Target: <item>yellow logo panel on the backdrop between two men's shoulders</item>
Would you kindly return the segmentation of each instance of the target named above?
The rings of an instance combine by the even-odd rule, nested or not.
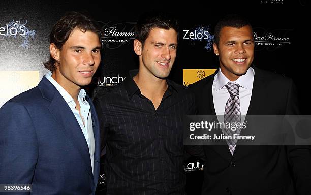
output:
[[[183,85],[188,86],[209,75],[212,75],[216,69],[183,69]]]

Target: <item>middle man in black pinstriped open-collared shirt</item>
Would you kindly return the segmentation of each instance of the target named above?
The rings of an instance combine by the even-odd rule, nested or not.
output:
[[[95,98],[106,146],[107,194],[184,194],[185,114],[194,114],[190,90],[167,79],[178,37],[167,14],[142,15],[135,28],[139,70]]]

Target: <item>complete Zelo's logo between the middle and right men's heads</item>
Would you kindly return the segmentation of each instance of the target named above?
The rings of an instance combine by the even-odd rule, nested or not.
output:
[[[204,26],[204,25],[196,27],[194,30],[183,30],[184,34],[183,34],[182,39],[190,40],[191,45],[195,45],[196,41],[200,41],[204,43],[206,42],[206,45],[204,46],[204,48],[210,51],[211,45],[214,40],[214,36],[210,35],[208,30],[209,30],[209,26]]]

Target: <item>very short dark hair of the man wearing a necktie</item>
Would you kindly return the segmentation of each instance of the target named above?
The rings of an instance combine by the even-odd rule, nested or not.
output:
[[[237,14],[228,14],[222,19],[220,19],[214,29],[214,43],[216,45],[219,44],[220,32],[223,27],[233,27],[233,28],[242,28],[244,26],[250,26],[252,29],[252,25],[245,17],[242,17]],[[253,29],[252,29],[253,31]]]

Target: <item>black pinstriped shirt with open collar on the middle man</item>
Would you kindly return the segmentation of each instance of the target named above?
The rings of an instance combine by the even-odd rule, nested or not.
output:
[[[184,194],[181,124],[194,114],[194,95],[167,80],[155,110],[132,78],[94,100],[106,146],[107,194]]]

